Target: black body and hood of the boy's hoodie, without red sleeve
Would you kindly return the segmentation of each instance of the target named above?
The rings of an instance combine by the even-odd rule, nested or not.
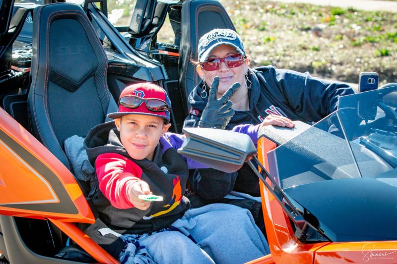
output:
[[[113,121],[91,129],[84,141],[84,146],[93,166],[95,166],[95,159],[104,153],[116,153],[131,159],[143,171],[142,175],[136,176],[140,176],[149,184],[153,194],[163,197],[162,202],[152,202],[145,211],[136,208],[117,209],[98,189],[92,202],[98,210],[99,218],[112,230],[122,234],[150,233],[168,227],[189,209],[189,200],[183,197],[188,180],[188,167],[175,149],[170,148],[162,154],[159,144],[155,149],[153,161],[132,159],[121,144],[120,133]],[[161,170],[161,167],[166,167],[168,173]],[[178,199],[181,197],[178,204]],[[178,205],[174,205],[175,203]],[[169,210],[173,205],[174,208]]]

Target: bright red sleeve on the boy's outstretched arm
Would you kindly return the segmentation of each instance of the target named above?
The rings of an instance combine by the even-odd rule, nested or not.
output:
[[[131,159],[115,153],[99,155],[95,160],[99,189],[118,209],[134,207],[129,192],[133,183],[140,180],[142,169]]]

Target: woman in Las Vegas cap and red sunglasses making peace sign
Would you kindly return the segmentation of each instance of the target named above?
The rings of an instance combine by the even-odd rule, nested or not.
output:
[[[340,96],[354,93],[346,84],[315,78],[309,73],[272,66],[249,68],[250,60],[240,36],[230,29],[214,29],[203,35],[199,40],[198,58],[195,63],[202,81],[189,95],[192,107],[185,127],[251,129],[255,143],[260,126],[292,127],[289,119],[309,124],[317,122],[337,109]],[[216,76],[219,77],[219,100],[208,100],[208,87],[212,92],[216,90]],[[240,85],[236,91],[238,84],[233,86],[235,83]],[[232,91],[228,91],[229,88]],[[231,95],[231,105],[222,98],[224,93]],[[256,126],[238,126],[242,124]],[[202,175],[193,179],[193,185],[199,186],[199,181],[205,182]],[[260,196],[258,178],[248,166],[238,171],[234,190]]]

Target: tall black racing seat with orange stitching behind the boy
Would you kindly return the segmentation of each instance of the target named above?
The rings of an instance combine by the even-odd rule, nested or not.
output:
[[[63,149],[85,137],[117,110],[107,80],[107,56],[79,5],[53,3],[34,9],[32,84],[28,111],[33,135],[71,170]]]

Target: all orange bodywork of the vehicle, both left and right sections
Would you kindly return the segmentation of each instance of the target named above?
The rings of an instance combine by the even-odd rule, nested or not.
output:
[[[276,147],[259,139],[258,158],[267,169],[266,154]],[[1,108],[0,159],[0,214],[48,219],[97,262],[118,263],[74,225],[95,219],[71,172]],[[302,243],[262,183],[261,196],[271,255],[250,264],[397,263],[397,241]]]

